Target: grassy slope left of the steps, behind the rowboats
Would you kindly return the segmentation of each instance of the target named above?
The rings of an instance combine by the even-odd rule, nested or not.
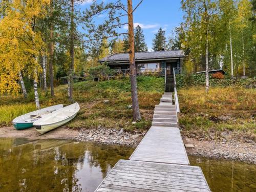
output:
[[[127,106],[132,104],[130,79],[109,81],[83,81],[74,84],[74,100],[80,105],[77,117],[67,124],[73,129],[91,129],[95,127],[116,128],[125,130],[145,130],[151,125],[155,104],[159,103],[164,88],[162,77],[143,76],[137,78],[138,97],[142,120],[132,124],[132,110]],[[70,104],[67,98],[67,86],[55,88],[55,97],[40,93],[41,107],[58,103]],[[109,103],[103,103],[109,100]],[[11,125],[11,120],[21,114],[35,110],[33,92],[28,99],[22,96],[1,96],[0,125]]]

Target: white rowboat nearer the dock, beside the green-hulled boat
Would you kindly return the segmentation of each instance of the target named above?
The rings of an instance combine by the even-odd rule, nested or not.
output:
[[[67,122],[71,121],[78,113],[80,107],[78,103],[66,106],[58,111],[46,115],[33,123],[36,131],[40,134],[49,132]]]

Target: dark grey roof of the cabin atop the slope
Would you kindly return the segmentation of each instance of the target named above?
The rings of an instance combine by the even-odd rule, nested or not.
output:
[[[152,60],[152,59],[170,59],[185,57],[183,50],[172,50],[172,51],[154,51],[154,52],[139,52],[135,53],[135,60]],[[129,61],[129,53],[119,53],[114,55],[108,55],[98,62],[104,62],[108,59],[112,61]]]

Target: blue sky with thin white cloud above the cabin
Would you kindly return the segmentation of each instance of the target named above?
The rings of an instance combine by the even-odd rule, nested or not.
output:
[[[105,0],[111,2],[111,0]],[[81,9],[90,6],[91,0],[79,5]],[[133,1],[135,7],[140,0]],[[126,1],[123,0],[126,5]],[[152,40],[160,27],[166,31],[166,37],[173,34],[175,27],[182,22],[181,0],[144,0],[134,12],[134,28],[139,25],[144,32],[145,41],[149,51],[152,51]],[[104,16],[104,15],[103,15]],[[103,17],[102,16],[102,17]],[[127,26],[123,26],[120,32],[125,32]]]

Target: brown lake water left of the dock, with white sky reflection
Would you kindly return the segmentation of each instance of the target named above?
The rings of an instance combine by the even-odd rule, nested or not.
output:
[[[133,150],[70,140],[0,139],[0,191],[94,191]]]

